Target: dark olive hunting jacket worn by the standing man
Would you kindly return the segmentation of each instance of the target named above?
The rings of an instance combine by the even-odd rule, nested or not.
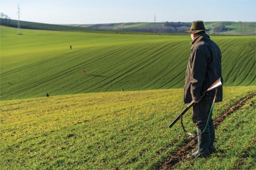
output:
[[[191,53],[185,76],[184,102],[194,101],[212,102],[215,90],[207,92],[201,98],[202,92],[221,77],[221,50],[207,34],[198,36],[191,42]],[[215,102],[222,101],[222,86],[218,87]]]

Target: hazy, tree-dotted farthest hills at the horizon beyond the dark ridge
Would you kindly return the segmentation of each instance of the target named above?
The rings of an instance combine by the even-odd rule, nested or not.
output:
[[[204,22],[207,33],[221,35],[256,35],[256,22]],[[131,22],[114,24],[82,24],[73,25],[91,29],[122,30],[151,33],[184,34],[190,29],[191,22]]]

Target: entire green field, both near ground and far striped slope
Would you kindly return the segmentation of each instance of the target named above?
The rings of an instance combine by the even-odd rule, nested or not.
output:
[[[185,107],[189,35],[0,29],[0,169],[156,169],[187,143],[168,125]],[[233,111],[216,153],[173,166],[256,169],[255,36],[211,38],[224,78],[213,118]],[[183,123],[195,132],[191,110]]]

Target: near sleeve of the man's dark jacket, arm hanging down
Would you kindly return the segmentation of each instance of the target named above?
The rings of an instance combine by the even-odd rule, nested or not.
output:
[[[191,53],[190,63],[191,63],[191,75],[190,75],[190,92],[192,95],[192,100],[200,101],[201,93],[204,89],[205,75],[207,72],[207,61],[209,54],[203,48],[198,47],[194,49]]]

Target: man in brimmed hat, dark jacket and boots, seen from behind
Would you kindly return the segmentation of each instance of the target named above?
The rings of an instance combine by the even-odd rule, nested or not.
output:
[[[205,130],[210,108],[215,90],[211,90],[201,97],[202,92],[208,89],[210,85],[221,77],[221,50],[218,45],[210,39],[205,33],[204,22],[193,21],[190,30],[192,47],[190,58],[185,76],[184,102],[190,103],[192,100],[196,103],[193,106],[192,120],[197,130],[198,149],[188,157],[205,157],[210,155],[216,149],[213,145],[215,140],[215,129],[213,120]],[[215,102],[222,101],[222,86],[218,87]]]

